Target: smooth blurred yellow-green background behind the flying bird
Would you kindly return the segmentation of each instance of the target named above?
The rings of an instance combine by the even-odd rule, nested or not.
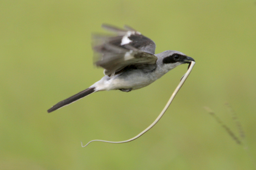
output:
[[[91,34],[129,25],[196,65],[158,124],[151,124],[188,65],[129,93],[94,93],[52,105],[103,76]],[[255,169],[256,1],[0,1],[0,169]],[[238,135],[238,145],[204,109]]]

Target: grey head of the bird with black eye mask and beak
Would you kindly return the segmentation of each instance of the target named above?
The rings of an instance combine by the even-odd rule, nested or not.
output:
[[[184,63],[190,63],[195,61],[193,58],[181,53],[180,51],[167,50],[162,53],[156,54],[157,64],[163,65],[168,70],[175,68],[176,66]]]

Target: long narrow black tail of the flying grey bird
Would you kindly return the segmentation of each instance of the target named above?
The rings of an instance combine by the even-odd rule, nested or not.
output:
[[[81,99],[82,97],[85,97],[88,94],[95,92],[94,89],[95,89],[95,87],[90,87],[88,89],[83,90],[82,92],[79,92],[79,93],[69,97],[68,99],[62,100],[59,103],[57,103],[56,105],[52,106],[50,109],[48,109],[47,112],[48,113],[53,112],[54,110],[57,110],[60,107],[66,106],[78,99]]]

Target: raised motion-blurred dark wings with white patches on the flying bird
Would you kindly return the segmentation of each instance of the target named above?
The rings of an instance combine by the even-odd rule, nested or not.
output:
[[[154,41],[129,26],[124,29],[109,25],[102,27],[115,33],[93,36],[93,50],[98,55],[95,64],[105,69],[104,74],[119,74],[125,68],[152,69],[152,65],[156,65]]]

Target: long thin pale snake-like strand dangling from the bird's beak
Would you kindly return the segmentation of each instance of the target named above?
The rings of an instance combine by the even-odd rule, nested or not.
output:
[[[172,103],[172,100],[174,99],[174,97],[176,96],[176,94],[179,92],[181,86],[184,84],[184,82],[186,81],[186,79],[188,78],[188,75],[190,74],[192,68],[194,67],[194,65],[196,64],[196,62],[192,61],[189,68],[188,68],[188,71],[185,73],[185,75],[183,76],[183,78],[180,80],[180,83],[179,85],[176,87],[176,89],[174,90],[174,92],[172,93],[172,96],[170,97],[170,99],[168,100],[168,102],[166,103],[164,109],[162,110],[162,112],[158,115],[158,117],[156,118],[156,120],[151,123],[151,125],[149,125],[145,130],[143,130],[142,132],[140,132],[137,136],[135,137],[132,137],[131,139],[128,139],[128,140],[124,140],[124,141],[107,141],[107,140],[99,140],[99,139],[96,139],[96,140],[91,140],[90,142],[88,142],[86,145],[83,146],[83,143],[81,142],[82,144],[82,147],[85,147],[87,146],[88,144],[90,144],[91,142],[94,142],[94,141],[99,141],[99,142],[107,142],[107,143],[112,143],[112,144],[121,144],[121,143],[126,143],[126,142],[131,142],[135,139],[137,139],[138,137],[142,136],[144,133],[146,133],[149,129],[151,129],[153,126],[156,125],[156,123],[161,119],[161,117],[164,115],[164,113],[166,112],[166,110],[168,109],[168,107],[170,106],[170,104]]]

